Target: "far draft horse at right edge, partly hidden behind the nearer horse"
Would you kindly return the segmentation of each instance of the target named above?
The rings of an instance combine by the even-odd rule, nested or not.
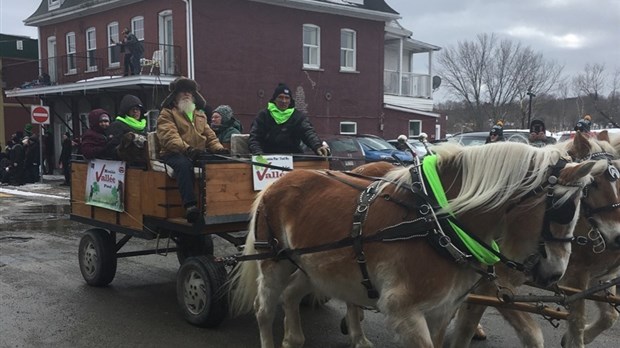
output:
[[[607,132],[601,132],[598,139],[586,141],[578,134],[566,148],[575,161],[599,159],[597,166],[605,168],[594,176],[587,196],[583,198],[582,209],[575,236],[579,243],[573,243],[573,250],[565,276],[560,285],[575,289],[587,289],[597,281],[615,278],[620,270],[620,138],[610,143]],[[509,241],[508,241],[509,242]],[[524,281],[518,274],[505,268],[498,268],[501,286],[514,289]],[[615,294],[615,287],[609,289]],[[487,284],[476,291],[493,296],[496,287]],[[610,328],[618,319],[614,307],[606,302],[596,303],[599,317],[586,325],[585,299],[569,304],[567,332],[562,338],[564,347],[584,347],[601,332]],[[455,331],[451,337],[453,347],[466,347],[465,342],[472,335],[473,323],[477,323],[484,306],[463,305],[455,320]],[[538,323],[525,312],[497,308],[502,316],[517,329],[518,337],[525,347],[543,347],[544,339]]]

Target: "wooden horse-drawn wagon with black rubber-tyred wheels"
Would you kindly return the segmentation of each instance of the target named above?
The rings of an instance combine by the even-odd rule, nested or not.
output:
[[[293,168],[328,167],[326,160],[310,157],[293,158]],[[99,162],[107,167],[104,169]],[[176,180],[163,163],[149,160],[146,167],[133,167],[118,161],[74,159],[70,218],[92,226],[79,244],[82,276],[89,285],[105,286],[114,279],[118,258],[176,252],[181,263],[177,298],[185,318],[200,326],[219,324],[226,314],[226,303],[218,291],[227,275],[224,264],[213,259],[211,235],[235,246],[243,244],[244,239],[233,232],[247,230],[250,207],[257,193],[253,183],[253,170],[257,168],[269,170],[268,165],[252,165],[249,157],[212,156],[200,160],[195,168],[194,190],[204,219],[190,224],[185,219]],[[112,193],[120,209],[94,200],[93,194],[107,186],[104,181],[112,175],[107,173],[120,175],[116,180],[109,179],[115,182]],[[134,237],[155,240],[156,246],[122,251]]]

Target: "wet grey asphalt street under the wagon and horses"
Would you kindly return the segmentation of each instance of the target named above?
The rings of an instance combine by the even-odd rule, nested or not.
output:
[[[108,287],[86,285],[78,265],[78,243],[90,228],[72,222],[67,199],[24,197],[0,191],[0,347],[257,347],[253,315],[225,320],[216,329],[191,326],[176,303],[176,255],[118,260]],[[131,240],[131,250],[155,241]],[[234,252],[216,239],[216,255]],[[339,330],[345,307],[332,300],[324,308],[304,307],[306,347],[348,347]],[[592,313],[593,314],[593,313]],[[547,346],[559,347],[558,329],[538,317]],[[520,347],[514,330],[488,310],[482,320],[488,339],[472,347]],[[363,322],[376,347],[398,347],[381,314]],[[282,314],[276,318],[282,338]],[[619,325],[590,347],[615,347]]]

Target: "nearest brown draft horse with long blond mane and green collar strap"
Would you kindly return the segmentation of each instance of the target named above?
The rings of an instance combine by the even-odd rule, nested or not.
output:
[[[303,345],[299,302],[312,289],[378,308],[403,345],[440,347],[455,310],[480,274],[486,275],[478,260],[497,261],[488,260],[495,256],[489,251],[492,241],[506,232],[497,217],[513,214],[510,206],[521,200],[531,200],[539,213],[522,216],[524,230],[538,231],[524,241],[536,249],[546,240],[546,257],[521,266],[541,284],[560,279],[594,163],[567,163],[559,148],[520,143],[444,144],[434,150],[436,165],[425,159],[422,170],[393,170],[381,185],[300,170],[258,195],[244,249],[248,259],[233,271],[230,301],[233,314],[254,307],[261,347],[274,346],[272,325],[281,296],[282,346]],[[429,176],[435,177],[432,187]],[[545,219],[546,209],[561,209],[569,223]],[[456,229],[448,227],[452,224],[466,241],[446,232]],[[465,243],[477,246],[465,248]]]

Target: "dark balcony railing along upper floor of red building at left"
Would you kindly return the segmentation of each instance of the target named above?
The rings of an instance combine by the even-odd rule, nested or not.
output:
[[[182,75],[180,63],[183,51],[180,46],[149,42],[142,44],[144,55],[141,62],[149,63],[141,66],[142,75]],[[23,83],[7,86],[9,89],[67,84],[103,76],[123,76],[125,71],[124,53],[121,53],[120,46],[117,45],[21,64],[32,64],[32,69],[26,70],[40,71],[39,77],[24,76]],[[49,75],[49,80],[42,78],[44,73]]]

